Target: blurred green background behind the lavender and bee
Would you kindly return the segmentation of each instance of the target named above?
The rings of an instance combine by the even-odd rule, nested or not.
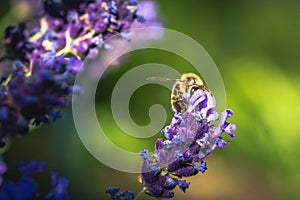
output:
[[[175,199],[300,199],[300,1],[156,3],[164,27],[198,41],[217,64],[226,87],[227,107],[235,113],[230,121],[238,127],[231,145],[216,150],[207,159],[209,170],[189,178],[192,184],[187,193],[177,190]],[[1,1],[0,11],[1,34],[5,26],[26,16],[26,9],[8,1]],[[99,83],[96,108],[104,118],[100,123],[118,146],[130,146],[133,152],[153,150],[159,133],[137,140],[117,128],[110,110],[114,85],[125,72],[143,63],[162,63],[180,72],[195,70],[168,52],[143,50],[126,57]],[[149,107],[160,103],[168,111],[169,122],[169,101],[170,91],[145,85],[131,98],[132,117],[145,125]],[[68,177],[72,199],[108,199],[105,189],[111,186],[134,192],[141,189],[137,174],[113,170],[87,152],[74,128],[71,109],[64,111],[62,120],[10,141],[4,154],[9,167],[5,177],[15,178],[18,163],[31,159],[45,160],[48,169]],[[37,176],[44,182],[40,191],[50,187],[48,175]]]

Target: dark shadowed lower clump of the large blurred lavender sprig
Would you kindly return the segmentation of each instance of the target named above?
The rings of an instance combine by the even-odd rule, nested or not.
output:
[[[60,117],[70,102],[75,74],[81,61],[63,56],[36,60],[31,75],[23,69],[12,73],[0,87],[0,137],[26,134],[29,125],[38,126]]]

